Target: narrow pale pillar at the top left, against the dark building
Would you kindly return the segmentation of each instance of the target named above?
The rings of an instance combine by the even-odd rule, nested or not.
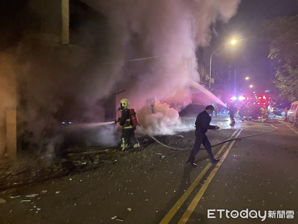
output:
[[[70,43],[70,0],[61,1],[62,44]]]

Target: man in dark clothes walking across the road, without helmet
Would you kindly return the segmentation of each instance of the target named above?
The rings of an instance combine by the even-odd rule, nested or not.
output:
[[[195,162],[196,154],[198,153],[201,144],[203,144],[204,147],[206,148],[212,163],[217,163],[218,161],[220,161],[219,159],[214,158],[212,151],[211,151],[211,143],[208,140],[208,137],[206,136],[206,132],[208,129],[219,129],[220,128],[218,126],[210,125],[211,116],[209,114],[211,114],[213,112],[214,112],[214,107],[212,105],[209,105],[205,108],[205,110],[203,112],[200,112],[199,115],[197,116],[197,119],[195,122],[195,124],[196,124],[195,144],[193,146],[193,149],[192,149],[186,163],[190,163],[193,166],[197,166],[197,164],[195,164],[194,162]]]

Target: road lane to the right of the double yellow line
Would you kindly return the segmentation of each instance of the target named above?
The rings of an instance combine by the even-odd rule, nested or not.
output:
[[[275,219],[267,217],[263,222],[224,217],[222,224],[298,223],[298,134],[286,125],[277,126],[277,132],[234,144],[188,224],[218,223],[219,214],[217,219],[207,219],[207,209],[275,211]],[[263,124],[255,124],[254,129],[264,130]],[[254,130],[243,131],[240,137],[250,133]]]

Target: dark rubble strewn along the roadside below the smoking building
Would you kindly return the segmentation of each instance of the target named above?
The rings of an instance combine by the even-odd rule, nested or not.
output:
[[[218,143],[221,139],[226,139],[229,136],[228,133],[231,131],[232,130],[228,132],[225,130],[210,131],[208,134],[212,143]],[[193,146],[194,131],[155,137],[166,145],[189,151]],[[152,145],[150,146],[150,150],[158,145],[148,136],[140,137],[139,141],[141,144],[141,151],[149,145]],[[164,149],[162,153],[149,153],[150,155],[157,156],[160,162],[166,161],[167,156],[169,155],[168,153],[173,151],[172,149],[166,149],[164,146],[161,146],[161,148]],[[116,147],[103,148],[100,146],[86,147],[83,145],[74,145],[64,150],[63,157],[55,158],[47,163],[44,163],[40,159],[32,158],[18,159],[17,161],[3,160],[0,162],[0,190],[71,175],[77,172],[95,169],[102,165],[117,164],[120,159],[128,159],[128,153],[136,153],[134,156],[140,157],[140,159],[144,159],[148,156],[148,153],[142,154],[138,152],[131,152],[130,150],[122,152]],[[176,153],[181,153],[181,151],[176,151]],[[42,191],[41,193],[46,192],[47,191]],[[16,195],[13,197],[19,196]]]

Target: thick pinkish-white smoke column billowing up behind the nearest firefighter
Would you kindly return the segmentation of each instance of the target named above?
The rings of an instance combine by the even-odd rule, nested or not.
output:
[[[84,1],[108,17],[115,59],[128,60],[117,70],[115,82],[125,90],[117,101],[128,98],[151,134],[173,133],[181,122],[178,112],[156,99],[178,105],[177,110],[190,103],[191,80],[199,79],[196,48],[209,44],[210,26],[228,21],[239,0]]]

